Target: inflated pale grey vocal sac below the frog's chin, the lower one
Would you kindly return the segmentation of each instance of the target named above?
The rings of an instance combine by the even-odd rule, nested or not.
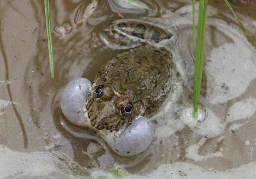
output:
[[[145,151],[154,136],[154,125],[146,117],[137,117],[120,134],[111,133],[106,139],[113,151],[121,156],[133,156]]]

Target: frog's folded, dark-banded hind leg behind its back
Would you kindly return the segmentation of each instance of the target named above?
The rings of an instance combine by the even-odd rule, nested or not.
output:
[[[159,43],[171,37],[172,33],[168,29],[138,19],[114,21],[100,33],[101,40],[113,49],[128,49],[142,44]]]

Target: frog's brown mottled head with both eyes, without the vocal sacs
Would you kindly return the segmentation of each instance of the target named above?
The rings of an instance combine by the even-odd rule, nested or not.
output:
[[[110,80],[97,80],[89,91],[87,99],[88,117],[98,130],[118,130],[143,116],[143,102],[134,99],[132,93],[121,93]],[[124,92],[124,91],[123,91]]]

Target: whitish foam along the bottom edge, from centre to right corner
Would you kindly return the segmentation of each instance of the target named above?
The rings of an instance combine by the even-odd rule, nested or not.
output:
[[[127,174],[126,179],[255,179],[256,162],[252,162],[229,171],[213,171],[211,168],[198,167],[194,164],[177,162],[175,164],[163,164],[151,174],[137,176]],[[100,179],[110,174],[96,170],[92,172],[94,179]]]

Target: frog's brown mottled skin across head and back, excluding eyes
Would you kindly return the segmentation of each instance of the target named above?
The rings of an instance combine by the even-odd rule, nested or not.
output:
[[[92,126],[118,130],[139,115],[153,115],[169,94],[173,76],[179,73],[165,48],[146,45],[117,55],[101,68],[89,91],[87,110]],[[104,94],[97,99],[94,92],[99,86]],[[130,115],[120,112],[126,102],[133,104]]]

